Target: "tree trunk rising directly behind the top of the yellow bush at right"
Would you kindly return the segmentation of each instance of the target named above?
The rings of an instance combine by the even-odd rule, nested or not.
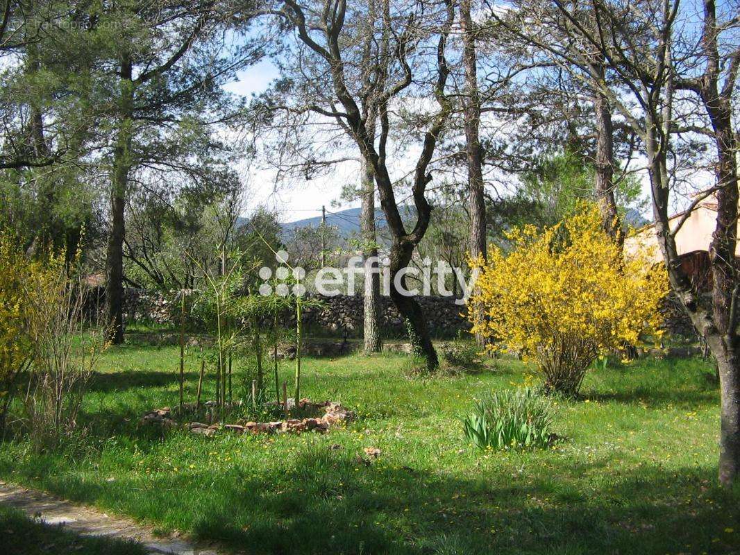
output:
[[[601,77],[604,77],[604,64],[597,64]],[[602,227],[619,246],[625,236],[614,199],[614,143],[611,122],[611,107],[608,99],[598,90],[593,91],[593,111],[596,114],[596,178],[594,189]]]

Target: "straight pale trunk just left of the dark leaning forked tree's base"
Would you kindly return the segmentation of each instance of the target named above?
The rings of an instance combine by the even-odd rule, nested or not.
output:
[[[375,235],[375,180],[372,165],[363,162],[362,214],[360,233],[365,243],[365,296],[363,337],[365,352],[377,353],[383,349],[380,341],[380,275],[377,272],[377,248]]]

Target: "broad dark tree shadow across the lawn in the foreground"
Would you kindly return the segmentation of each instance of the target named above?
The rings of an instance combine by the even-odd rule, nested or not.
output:
[[[651,466],[613,482],[575,474],[460,480],[383,456],[366,465],[349,451],[312,445],[259,476],[235,467],[228,475],[158,477],[148,501],[186,508],[176,518],[197,536],[250,554],[729,554],[736,547],[740,495],[715,488],[705,472]]]

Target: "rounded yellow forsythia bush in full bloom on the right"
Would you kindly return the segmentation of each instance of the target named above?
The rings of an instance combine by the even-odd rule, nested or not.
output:
[[[513,229],[506,251],[491,246],[468,301],[471,332],[491,349],[534,360],[545,389],[578,392],[600,354],[643,333],[658,337],[659,303],[668,291],[665,267],[647,253],[625,260],[602,230],[596,206],[582,204],[565,221],[539,231]]]

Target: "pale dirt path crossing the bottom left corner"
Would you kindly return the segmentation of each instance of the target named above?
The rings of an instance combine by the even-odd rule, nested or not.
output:
[[[43,491],[0,482],[0,503],[19,509],[28,517],[47,525],[61,525],[85,536],[132,539],[144,545],[150,554],[223,555],[212,546],[195,545],[186,539],[157,537],[152,530],[131,519],[111,517],[96,508],[64,501]]]

